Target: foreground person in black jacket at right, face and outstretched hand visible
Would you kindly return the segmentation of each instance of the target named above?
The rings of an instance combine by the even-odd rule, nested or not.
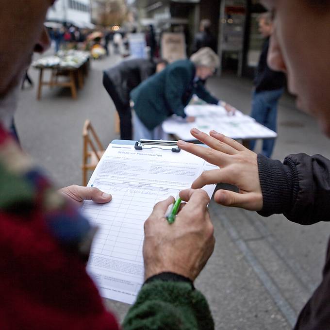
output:
[[[297,106],[314,115],[330,137],[330,1],[263,0],[275,15],[268,64],[288,76]],[[313,29],[309,22],[313,21]],[[297,28],[298,27],[298,28]],[[284,162],[270,160],[214,131],[192,134],[214,150],[182,141],[178,146],[221,169],[204,172],[192,185],[230,183],[239,192],[218,190],[214,200],[222,205],[284,214],[301,225],[330,220],[330,160],[321,155],[289,155]],[[219,143],[220,141],[220,143]],[[330,243],[322,282],[298,316],[294,330],[330,329]]]

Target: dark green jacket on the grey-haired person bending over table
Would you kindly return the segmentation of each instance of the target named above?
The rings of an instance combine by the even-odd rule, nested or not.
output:
[[[217,104],[218,99],[200,81],[194,82],[195,74],[196,68],[191,61],[176,61],[132,90],[135,113],[148,130],[153,130],[173,114],[184,118],[184,108],[193,94],[207,103]]]

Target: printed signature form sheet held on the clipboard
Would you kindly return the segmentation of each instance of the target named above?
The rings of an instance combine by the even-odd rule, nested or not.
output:
[[[112,194],[108,204],[85,201],[82,213],[99,227],[87,270],[102,297],[133,303],[144,281],[143,225],[153,206],[217,168],[183,150],[135,150],[110,144],[88,186]],[[215,185],[206,187],[211,197]]]

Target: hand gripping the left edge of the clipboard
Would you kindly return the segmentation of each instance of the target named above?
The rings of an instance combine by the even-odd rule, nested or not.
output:
[[[84,200],[93,200],[96,203],[104,204],[112,199],[111,195],[103,193],[99,188],[82,187],[76,184],[62,188],[59,192],[78,205],[81,205]]]

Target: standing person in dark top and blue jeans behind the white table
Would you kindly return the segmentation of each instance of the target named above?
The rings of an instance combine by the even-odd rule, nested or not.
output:
[[[267,65],[269,38],[272,33],[273,22],[270,13],[259,16],[259,32],[265,37],[263,49],[254,79],[255,90],[252,94],[251,117],[258,123],[277,131],[277,107],[284,92],[285,76],[283,72],[272,70]],[[250,140],[249,148],[254,149],[255,140]],[[275,146],[275,139],[264,139],[262,154],[271,157]]]

